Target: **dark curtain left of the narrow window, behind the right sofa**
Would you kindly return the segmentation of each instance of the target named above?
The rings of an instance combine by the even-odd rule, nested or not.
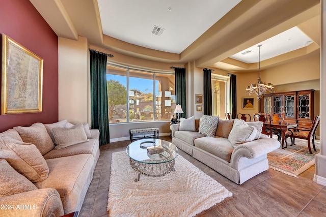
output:
[[[212,82],[211,82],[211,69],[204,69],[204,96],[203,96],[203,114],[213,114],[213,102],[212,102]]]

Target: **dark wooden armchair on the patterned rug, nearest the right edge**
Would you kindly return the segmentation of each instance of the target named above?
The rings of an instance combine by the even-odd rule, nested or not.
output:
[[[311,147],[310,147],[310,140],[312,140],[312,146],[314,148],[314,151],[316,151],[315,133],[316,133],[316,129],[317,129],[318,125],[319,125],[319,121],[320,121],[320,118],[317,115],[317,116],[315,116],[315,118],[314,118],[314,120],[312,122],[311,128],[304,128],[304,127],[300,127],[300,126],[293,127],[293,128],[288,128],[288,131],[285,134],[286,146],[287,146],[286,139],[288,137],[290,137],[290,139],[291,139],[291,145],[295,145],[294,144],[295,138],[305,139],[305,140],[308,141],[309,152],[312,154]]]

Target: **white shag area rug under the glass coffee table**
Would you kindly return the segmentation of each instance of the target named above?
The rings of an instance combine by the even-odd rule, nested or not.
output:
[[[125,151],[112,153],[109,216],[194,216],[231,197],[222,184],[180,155],[175,170],[160,177],[138,176]]]

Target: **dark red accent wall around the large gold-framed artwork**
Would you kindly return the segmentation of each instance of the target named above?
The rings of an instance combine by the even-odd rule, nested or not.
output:
[[[28,0],[0,0],[0,33],[43,58],[43,111],[0,115],[0,132],[58,121],[58,36]]]

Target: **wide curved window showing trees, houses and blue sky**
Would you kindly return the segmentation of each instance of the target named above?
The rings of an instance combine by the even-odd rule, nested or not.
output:
[[[108,65],[106,79],[110,123],[171,119],[174,73]]]

